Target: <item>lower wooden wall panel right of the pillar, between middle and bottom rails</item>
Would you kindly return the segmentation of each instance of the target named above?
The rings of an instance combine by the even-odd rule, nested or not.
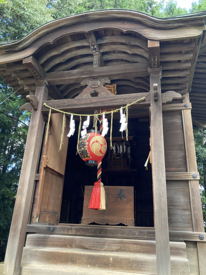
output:
[[[167,181],[169,230],[193,231],[188,181]]]

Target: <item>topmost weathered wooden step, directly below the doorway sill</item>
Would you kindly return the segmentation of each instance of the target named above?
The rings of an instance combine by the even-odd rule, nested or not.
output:
[[[29,234],[26,247],[33,248],[76,248],[94,251],[127,252],[138,255],[156,256],[155,240],[66,236],[54,234]],[[185,242],[170,242],[170,256],[187,258]]]

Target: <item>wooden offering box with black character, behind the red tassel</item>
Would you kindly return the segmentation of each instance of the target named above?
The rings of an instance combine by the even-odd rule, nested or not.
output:
[[[106,210],[89,209],[93,186],[85,186],[82,225],[97,223],[101,225],[135,226],[134,187],[104,186],[106,193]]]

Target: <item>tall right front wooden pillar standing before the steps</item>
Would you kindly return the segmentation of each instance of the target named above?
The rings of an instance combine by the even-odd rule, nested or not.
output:
[[[166,174],[162,126],[161,67],[151,69],[151,147],[154,194],[154,219],[156,238],[157,274],[171,275],[170,244],[167,212]],[[155,90],[154,91],[154,87]],[[157,87],[157,89],[156,89]]]

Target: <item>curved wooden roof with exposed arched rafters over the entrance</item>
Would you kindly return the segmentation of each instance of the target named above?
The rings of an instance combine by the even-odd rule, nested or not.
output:
[[[94,52],[90,47],[93,41],[100,52],[99,66],[147,63],[150,39],[160,41],[162,92],[175,90],[185,94],[191,88],[205,30],[205,14],[156,18],[137,11],[107,9],[63,17],[38,27],[18,41],[0,43],[0,76],[15,90],[23,85],[18,93],[26,98],[39,85],[23,63],[28,56],[34,56],[47,75],[66,70],[86,71],[93,68]],[[198,64],[196,67],[204,66]],[[192,97],[197,96],[193,94],[196,93],[194,81]],[[50,98],[74,98],[85,88],[80,82],[52,85]],[[148,92],[150,89],[147,75],[116,77],[111,82],[117,83],[117,94]],[[197,113],[193,114],[200,122]],[[206,117],[204,119],[206,124]]]

